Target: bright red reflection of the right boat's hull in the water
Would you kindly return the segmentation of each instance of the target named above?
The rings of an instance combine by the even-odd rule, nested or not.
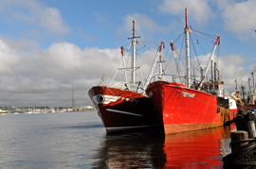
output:
[[[230,130],[224,127],[167,135],[165,166],[220,168],[222,157],[230,153],[229,138]]]

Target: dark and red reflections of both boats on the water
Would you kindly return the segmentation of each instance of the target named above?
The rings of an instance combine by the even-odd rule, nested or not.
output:
[[[103,136],[92,168],[221,168],[230,153],[229,138],[229,127]]]

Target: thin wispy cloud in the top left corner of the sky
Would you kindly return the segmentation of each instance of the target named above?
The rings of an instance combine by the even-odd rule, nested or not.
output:
[[[36,0],[4,0],[0,12],[11,22],[26,22],[30,25],[41,25],[50,33],[64,34],[69,32],[64,25],[58,8],[47,8]]]

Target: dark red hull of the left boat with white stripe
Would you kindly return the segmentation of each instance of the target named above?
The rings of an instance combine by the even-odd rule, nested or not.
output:
[[[141,93],[96,86],[88,94],[107,133],[163,127],[153,103]]]

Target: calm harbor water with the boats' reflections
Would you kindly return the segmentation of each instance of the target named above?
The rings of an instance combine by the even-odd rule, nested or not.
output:
[[[106,135],[97,112],[0,115],[0,168],[222,168],[229,127]]]

